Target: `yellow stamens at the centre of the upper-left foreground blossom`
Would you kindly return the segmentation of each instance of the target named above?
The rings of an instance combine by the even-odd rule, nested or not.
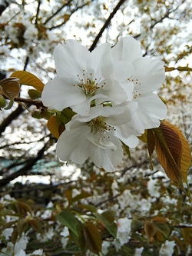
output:
[[[80,83],[78,83],[78,87],[81,88],[84,91],[85,95],[94,95],[96,91],[101,90],[101,88],[106,85],[104,82],[103,85],[98,85],[101,78],[92,78],[92,73],[87,75],[83,69],[83,78],[80,78],[80,75],[78,75]],[[74,85],[75,86],[75,85]]]

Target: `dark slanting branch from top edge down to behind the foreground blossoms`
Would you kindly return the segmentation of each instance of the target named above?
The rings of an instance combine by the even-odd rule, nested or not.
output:
[[[113,12],[111,12],[111,14],[109,15],[108,19],[106,20],[106,22],[104,22],[104,25],[103,27],[101,28],[100,32],[98,32],[98,35],[96,36],[96,38],[94,39],[94,42],[93,44],[91,45],[91,47],[89,48],[89,51],[93,51],[95,46],[98,44],[98,41],[99,39],[101,38],[101,35],[103,34],[104,32],[104,29],[105,28],[108,28],[108,25],[110,24],[111,22],[111,19],[114,18],[114,15],[116,14],[116,12],[118,12],[118,9],[121,7],[121,5],[123,5],[123,3],[125,2],[126,0],[120,0],[118,2],[118,5],[115,6]]]

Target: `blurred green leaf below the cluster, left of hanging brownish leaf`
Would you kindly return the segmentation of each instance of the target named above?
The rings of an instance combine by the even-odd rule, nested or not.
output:
[[[77,220],[71,211],[61,211],[61,213],[56,214],[56,217],[61,224],[73,231],[74,234],[78,235]]]

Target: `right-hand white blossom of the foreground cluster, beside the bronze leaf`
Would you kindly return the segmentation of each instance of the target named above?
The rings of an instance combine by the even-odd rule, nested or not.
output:
[[[163,101],[154,94],[162,85],[165,78],[164,62],[142,57],[140,44],[132,37],[120,38],[117,45],[111,48],[114,61],[114,76],[120,82],[124,91],[134,84],[134,98],[137,102],[137,111],[134,112],[132,121],[139,121],[140,131],[156,128],[167,115],[167,107]],[[121,75],[116,66],[122,67],[130,62],[134,68],[133,75]],[[128,128],[128,127],[127,127]]]

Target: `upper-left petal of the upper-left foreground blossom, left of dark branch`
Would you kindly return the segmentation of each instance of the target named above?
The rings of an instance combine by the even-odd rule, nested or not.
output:
[[[66,43],[55,47],[54,59],[58,76],[77,78],[82,70],[87,70],[87,60],[90,52],[75,40],[66,40]]]

